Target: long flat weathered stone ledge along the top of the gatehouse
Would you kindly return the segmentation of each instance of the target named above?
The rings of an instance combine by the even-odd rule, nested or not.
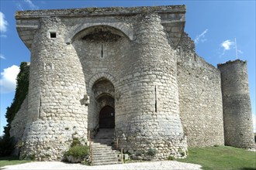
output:
[[[106,7],[106,8],[69,8],[69,9],[49,9],[36,11],[18,11],[16,19],[19,18],[38,18],[45,16],[81,16],[81,15],[136,15],[138,13],[157,12],[184,12],[185,5],[166,5],[166,6],[141,6],[141,7]]]

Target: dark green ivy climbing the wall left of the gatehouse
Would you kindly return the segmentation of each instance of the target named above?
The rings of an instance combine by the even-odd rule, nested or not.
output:
[[[6,109],[5,117],[7,124],[4,128],[4,134],[0,137],[0,156],[9,155],[12,152],[13,143],[12,138],[10,138],[11,123],[29,90],[29,63],[22,62],[19,69],[20,71],[16,78],[17,85],[15,97],[12,100],[11,106]]]

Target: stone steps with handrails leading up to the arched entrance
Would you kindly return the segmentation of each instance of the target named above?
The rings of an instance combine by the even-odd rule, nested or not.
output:
[[[119,164],[118,151],[113,145],[114,129],[99,129],[95,138],[92,138],[93,160],[92,165]]]

